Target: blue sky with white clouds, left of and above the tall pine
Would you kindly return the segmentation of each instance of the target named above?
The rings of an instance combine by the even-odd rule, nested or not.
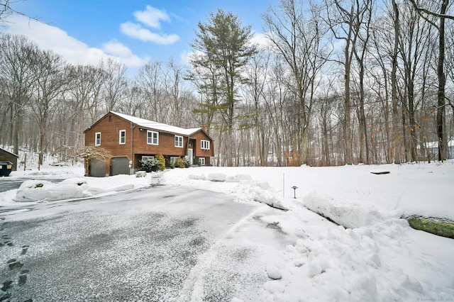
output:
[[[69,62],[96,64],[116,57],[130,69],[148,60],[184,63],[199,21],[218,9],[238,15],[262,39],[262,13],[278,0],[28,0],[13,9],[38,18],[11,16],[3,32],[27,35]]]

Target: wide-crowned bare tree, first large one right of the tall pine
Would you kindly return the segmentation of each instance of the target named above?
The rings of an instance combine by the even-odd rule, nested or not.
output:
[[[281,0],[277,9],[270,8],[263,15],[267,37],[292,71],[291,81],[287,84],[299,103],[301,141],[298,148],[304,163],[307,162],[307,129],[311,121],[316,79],[326,62],[321,45],[324,31],[320,11],[316,11],[315,7],[311,9],[304,11],[302,1]]]

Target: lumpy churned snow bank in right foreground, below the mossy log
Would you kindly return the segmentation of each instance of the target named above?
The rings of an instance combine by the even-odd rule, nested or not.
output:
[[[396,218],[345,229],[317,223],[302,208],[294,214],[301,218],[294,225],[300,238],[272,259],[274,267],[265,267],[270,279],[280,278],[262,285],[262,301],[411,301],[454,293],[448,277],[454,247],[447,238],[417,232]],[[271,220],[280,225],[287,217]],[[439,255],[430,248],[435,242],[445,249]]]

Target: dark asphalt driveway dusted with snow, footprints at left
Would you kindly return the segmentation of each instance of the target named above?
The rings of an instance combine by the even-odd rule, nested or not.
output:
[[[1,208],[0,301],[176,301],[199,256],[256,208],[181,186]]]

